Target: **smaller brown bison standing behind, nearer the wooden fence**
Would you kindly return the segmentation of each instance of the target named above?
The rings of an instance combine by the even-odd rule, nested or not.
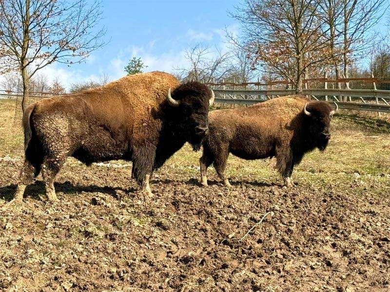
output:
[[[328,145],[334,112],[323,101],[309,101],[300,95],[275,98],[248,108],[215,110],[209,116],[209,134],[200,158],[201,183],[207,186],[206,171],[214,163],[224,176],[229,153],[243,159],[276,157],[276,167],[290,185],[292,169],[305,153]]]

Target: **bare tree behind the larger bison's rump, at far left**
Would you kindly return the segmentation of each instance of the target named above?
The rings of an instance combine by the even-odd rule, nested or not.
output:
[[[22,110],[29,81],[40,69],[83,61],[103,45],[97,29],[100,2],[93,0],[0,0],[0,70],[18,70],[23,80]]]

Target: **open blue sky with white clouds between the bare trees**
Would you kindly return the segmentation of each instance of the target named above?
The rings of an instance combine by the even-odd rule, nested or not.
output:
[[[103,0],[101,24],[109,43],[82,64],[52,64],[41,73],[58,77],[65,87],[83,80],[110,80],[125,75],[132,56],[141,57],[146,71],[168,71],[187,64],[185,50],[203,43],[226,48],[224,29],[238,28],[228,10],[239,0]]]

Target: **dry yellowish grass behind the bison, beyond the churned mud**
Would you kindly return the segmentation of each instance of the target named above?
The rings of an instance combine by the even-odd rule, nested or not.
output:
[[[0,101],[0,157],[21,158],[23,134],[20,125],[14,124],[15,102]],[[389,180],[390,173],[390,123],[374,117],[372,113],[346,114],[342,112],[333,119],[331,142],[325,152],[314,150],[306,155],[302,163],[295,168],[294,181],[297,183],[317,182],[320,184],[337,181]],[[160,171],[192,173],[198,177],[198,159],[201,152],[191,151],[186,145],[178,151]],[[124,163],[124,162],[117,162]],[[77,164],[73,159],[68,164]],[[280,180],[274,169],[275,161],[245,161],[230,155],[226,174],[231,180],[253,180],[272,183]],[[80,168],[84,166],[79,165]],[[158,173],[157,173],[158,175]],[[218,180],[213,167],[209,168],[210,179]]]

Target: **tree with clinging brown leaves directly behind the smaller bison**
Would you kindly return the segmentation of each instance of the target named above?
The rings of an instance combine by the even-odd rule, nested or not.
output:
[[[240,39],[254,66],[292,81],[302,91],[304,74],[329,62],[329,28],[318,12],[320,0],[245,0],[232,17],[241,23]]]

